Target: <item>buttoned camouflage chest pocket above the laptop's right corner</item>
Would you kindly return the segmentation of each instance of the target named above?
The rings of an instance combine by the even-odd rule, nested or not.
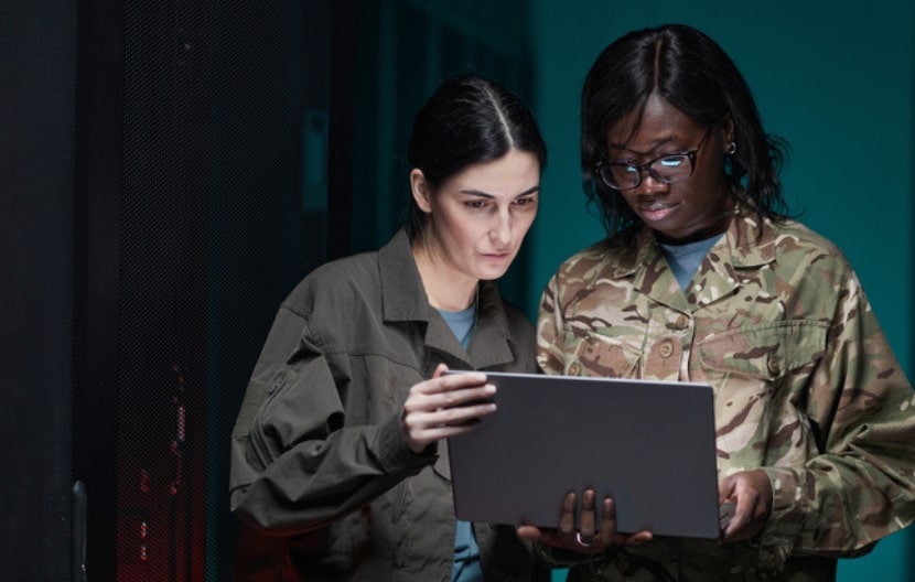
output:
[[[696,346],[700,366],[774,382],[812,367],[826,351],[829,326],[818,321],[776,322],[717,333]]]

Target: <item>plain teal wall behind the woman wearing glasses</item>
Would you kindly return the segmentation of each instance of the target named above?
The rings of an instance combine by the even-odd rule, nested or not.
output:
[[[531,314],[556,266],[602,235],[585,211],[578,162],[588,67],[628,30],[682,22],[729,52],[768,131],[789,141],[789,203],[849,257],[914,377],[915,3],[532,0],[531,18],[534,106],[550,148],[527,242]],[[911,530],[891,536],[870,556],[842,561],[840,581],[913,581],[913,550]]]

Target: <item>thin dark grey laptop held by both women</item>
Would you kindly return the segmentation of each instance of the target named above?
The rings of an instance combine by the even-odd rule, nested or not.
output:
[[[564,495],[593,487],[620,532],[719,537],[711,386],[485,374],[496,412],[448,440],[459,519],[556,528]]]

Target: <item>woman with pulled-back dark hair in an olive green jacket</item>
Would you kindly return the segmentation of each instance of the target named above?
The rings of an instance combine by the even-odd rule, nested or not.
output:
[[[546,146],[506,89],[443,84],[409,143],[407,225],[322,266],[280,306],[238,414],[232,509],[283,540],[280,580],[529,580],[510,527],[456,522],[442,439],[495,406],[481,373],[535,371],[535,334],[493,280],[539,197]],[[265,564],[237,580],[265,580]]]

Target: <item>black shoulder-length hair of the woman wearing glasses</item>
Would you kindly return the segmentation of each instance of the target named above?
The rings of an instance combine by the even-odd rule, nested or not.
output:
[[[704,33],[681,24],[629,32],[598,56],[581,95],[581,168],[589,204],[599,203],[609,239],[638,224],[622,195],[596,180],[607,155],[611,126],[636,112],[657,94],[708,128],[726,116],[734,122],[736,151],[722,161],[732,192],[743,191],[758,215],[781,219],[787,205],[778,171],[787,144],[763,130],[750,87],[733,61]],[[626,237],[624,237],[626,238]],[[628,238],[626,238],[628,239]]]

